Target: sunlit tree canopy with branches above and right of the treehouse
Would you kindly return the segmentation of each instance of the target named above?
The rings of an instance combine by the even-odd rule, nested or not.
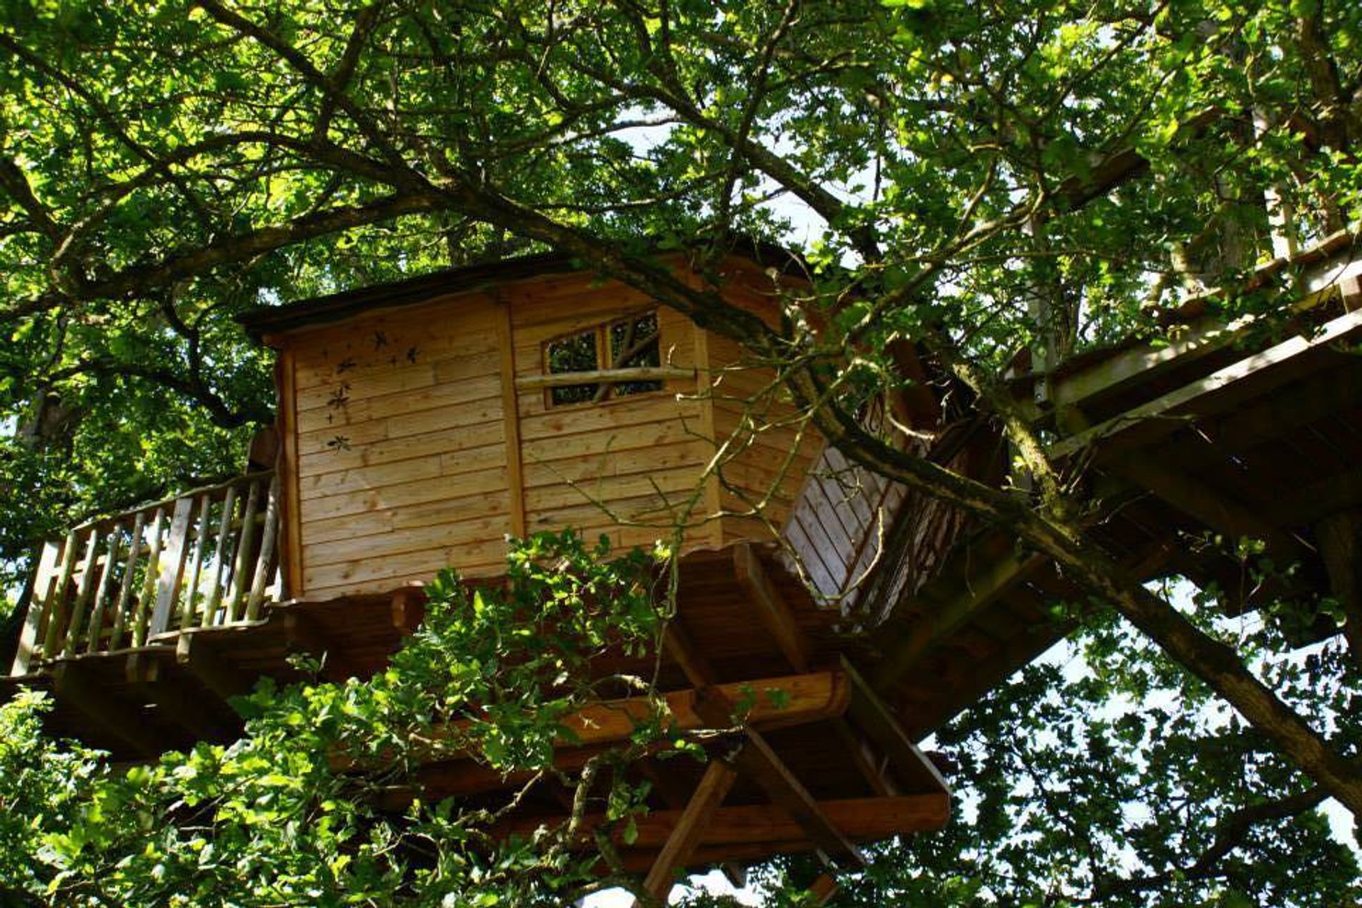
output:
[[[1355,871],[1312,811],[1362,811],[1359,653],[1126,580],[1001,378],[1158,339],[1208,287],[1226,317],[1279,308],[1293,271],[1239,291],[1253,267],[1358,216],[1359,42],[1362,8],[1332,0],[4,4],[0,558],[12,580],[54,528],[240,463],[271,419],[241,310],[554,249],[782,363],[851,460],[1109,607],[1090,675],[1034,668],[972,716],[987,738],[943,738],[974,817],[868,892],[1324,904]],[[779,328],[658,261],[704,274],[753,237],[808,267]],[[1002,427],[1028,490],[861,426],[919,380],[899,343]],[[45,765],[20,794],[75,796]],[[1327,849],[1310,892],[1302,855]]]

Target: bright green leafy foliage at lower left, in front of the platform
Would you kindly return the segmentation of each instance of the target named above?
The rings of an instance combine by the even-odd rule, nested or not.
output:
[[[513,547],[507,588],[454,572],[429,587],[421,629],[369,681],[262,683],[238,704],[247,732],[155,765],[117,769],[44,736],[49,702],[0,707],[0,885],[15,904],[535,904],[603,885],[572,817],[489,837],[498,807],[411,799],[421,764],[473,758],[561,784],[620,822],[643,794],[631,756],[669,742],[662,701],[633,741],[573,776],[553,764],[563,719],[601,697],[586,666],[606,645],[651,647],[655,562],[606,561],[572,534]],[[597,683],[617,685],[598,679]],[[642,681],[637,696],[647,697]],[[388,799],[388,800],[385,800]],[[610,875],[606,874],[606,879]],[[8,901],[5,904],[10,904]]]

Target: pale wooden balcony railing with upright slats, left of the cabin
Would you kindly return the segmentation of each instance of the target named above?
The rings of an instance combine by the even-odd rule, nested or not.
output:
[[[256,472],[46,543],[11,674],[259,619],[279,596],[278,528],[278,479]]]

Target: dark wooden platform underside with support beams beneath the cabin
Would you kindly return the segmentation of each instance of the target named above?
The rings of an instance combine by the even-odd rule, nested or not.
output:
[[[169,632],[135,649],[59,658],[5,683],[50,690],[54,732],[106,747],[116,760],[150,758],[197,739],[230,739],[240,731],[230,698],[257,677],[298,678],[291,653],[320,660],[327,679],[377,671],[421,611],[421,594],[411,587],[275,603],[256,622]],[[637,841],[621,844],[631,869],[654,867],[671,833],[695,825],[686,811],[718,765],[731,777],[704,822],[686,833],[689,852],[665,856],[674,869],[795,851],[854,866],[859,843],[947,821],[944,779],[861,679],[854,667],[861,648],[843,623],[839,611],[814,604],[774,547],[740,545],[682,558],[659,685],[678,728],[729,732],[712,742],[708,764],[671,758],[637,766],[640,780],[652,784],[652,813],[639,825]],[[647,675],[654,667],[622,656],[592,663],[602,677]],[[750,690],[767,696],[757,697],[744,724],[730,728],[733,704]],[[646,701],[636,698],[569,717],[580,741],[558,750],[558,764],[580,768],[603,747],[627,741],[631,716],[644,712]],[[417,794],[501,806],[520,783],[471,757],[432,760],[414,787],[387,791],[383,806],[400,810]],[[524,833],[564,817],[561,792],[543,785],[524,798],[503,832]]]

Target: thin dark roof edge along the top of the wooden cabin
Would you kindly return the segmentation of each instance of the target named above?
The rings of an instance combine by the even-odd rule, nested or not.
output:
[[[744,240],[730,255],[759,265],[779,268],[782,272],[801,270],[804,265],[797,252],[760,240]],[[259,342],[266,335],[339,321],[373,309],[415,305],[437,295],[475,290],[479,286],[590,270],[590,265],[575,256],[541,252],[500,261],[443,268],[414,278],[368,285],[283,305],[256,306],[237,316],[237,321],[253,340]]]

